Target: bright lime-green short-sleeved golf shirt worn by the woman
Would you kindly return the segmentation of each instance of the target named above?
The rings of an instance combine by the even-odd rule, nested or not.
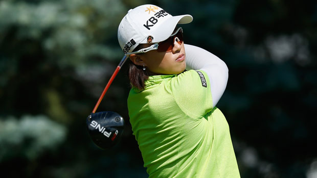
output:
[[[200,70],[199,70],[200,71]],[[128,110],[149,177],[240,177],[229,125],[205,72],[154,75]]]

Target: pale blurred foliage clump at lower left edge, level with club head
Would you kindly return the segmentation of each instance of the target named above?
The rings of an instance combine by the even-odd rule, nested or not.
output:
[[[9,117],[0,120],[0,161],[21,156],[28,160],[56,148],[65,141],[65,127],[46,116],[25,115],[19,120]]]

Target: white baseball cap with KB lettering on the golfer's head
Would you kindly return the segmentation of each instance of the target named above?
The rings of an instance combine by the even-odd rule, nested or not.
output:
[[[123,52],[131,53],[142,43],[155,43],[166,40],[176,24],[190,23],[191,15],[172,16],[155,5],[142,5],[130,9],[118,28],[118,40]]]

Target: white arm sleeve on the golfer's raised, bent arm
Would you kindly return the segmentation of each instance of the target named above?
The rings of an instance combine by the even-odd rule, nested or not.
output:
[[[197,46],[185,44],[186,69],[203,70],[210,80],[213,107],[221,98],[228,82],[228,67],[217,56]]]

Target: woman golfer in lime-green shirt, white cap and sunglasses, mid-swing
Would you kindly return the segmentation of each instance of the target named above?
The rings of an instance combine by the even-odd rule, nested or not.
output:
[[[184,44],[176,25],[191,21],[155,5],[131,9],[122,19],[118,39],[130,58],[133,135],[150,177],[240,177],[229,125],[216,107],[228,68]]]

